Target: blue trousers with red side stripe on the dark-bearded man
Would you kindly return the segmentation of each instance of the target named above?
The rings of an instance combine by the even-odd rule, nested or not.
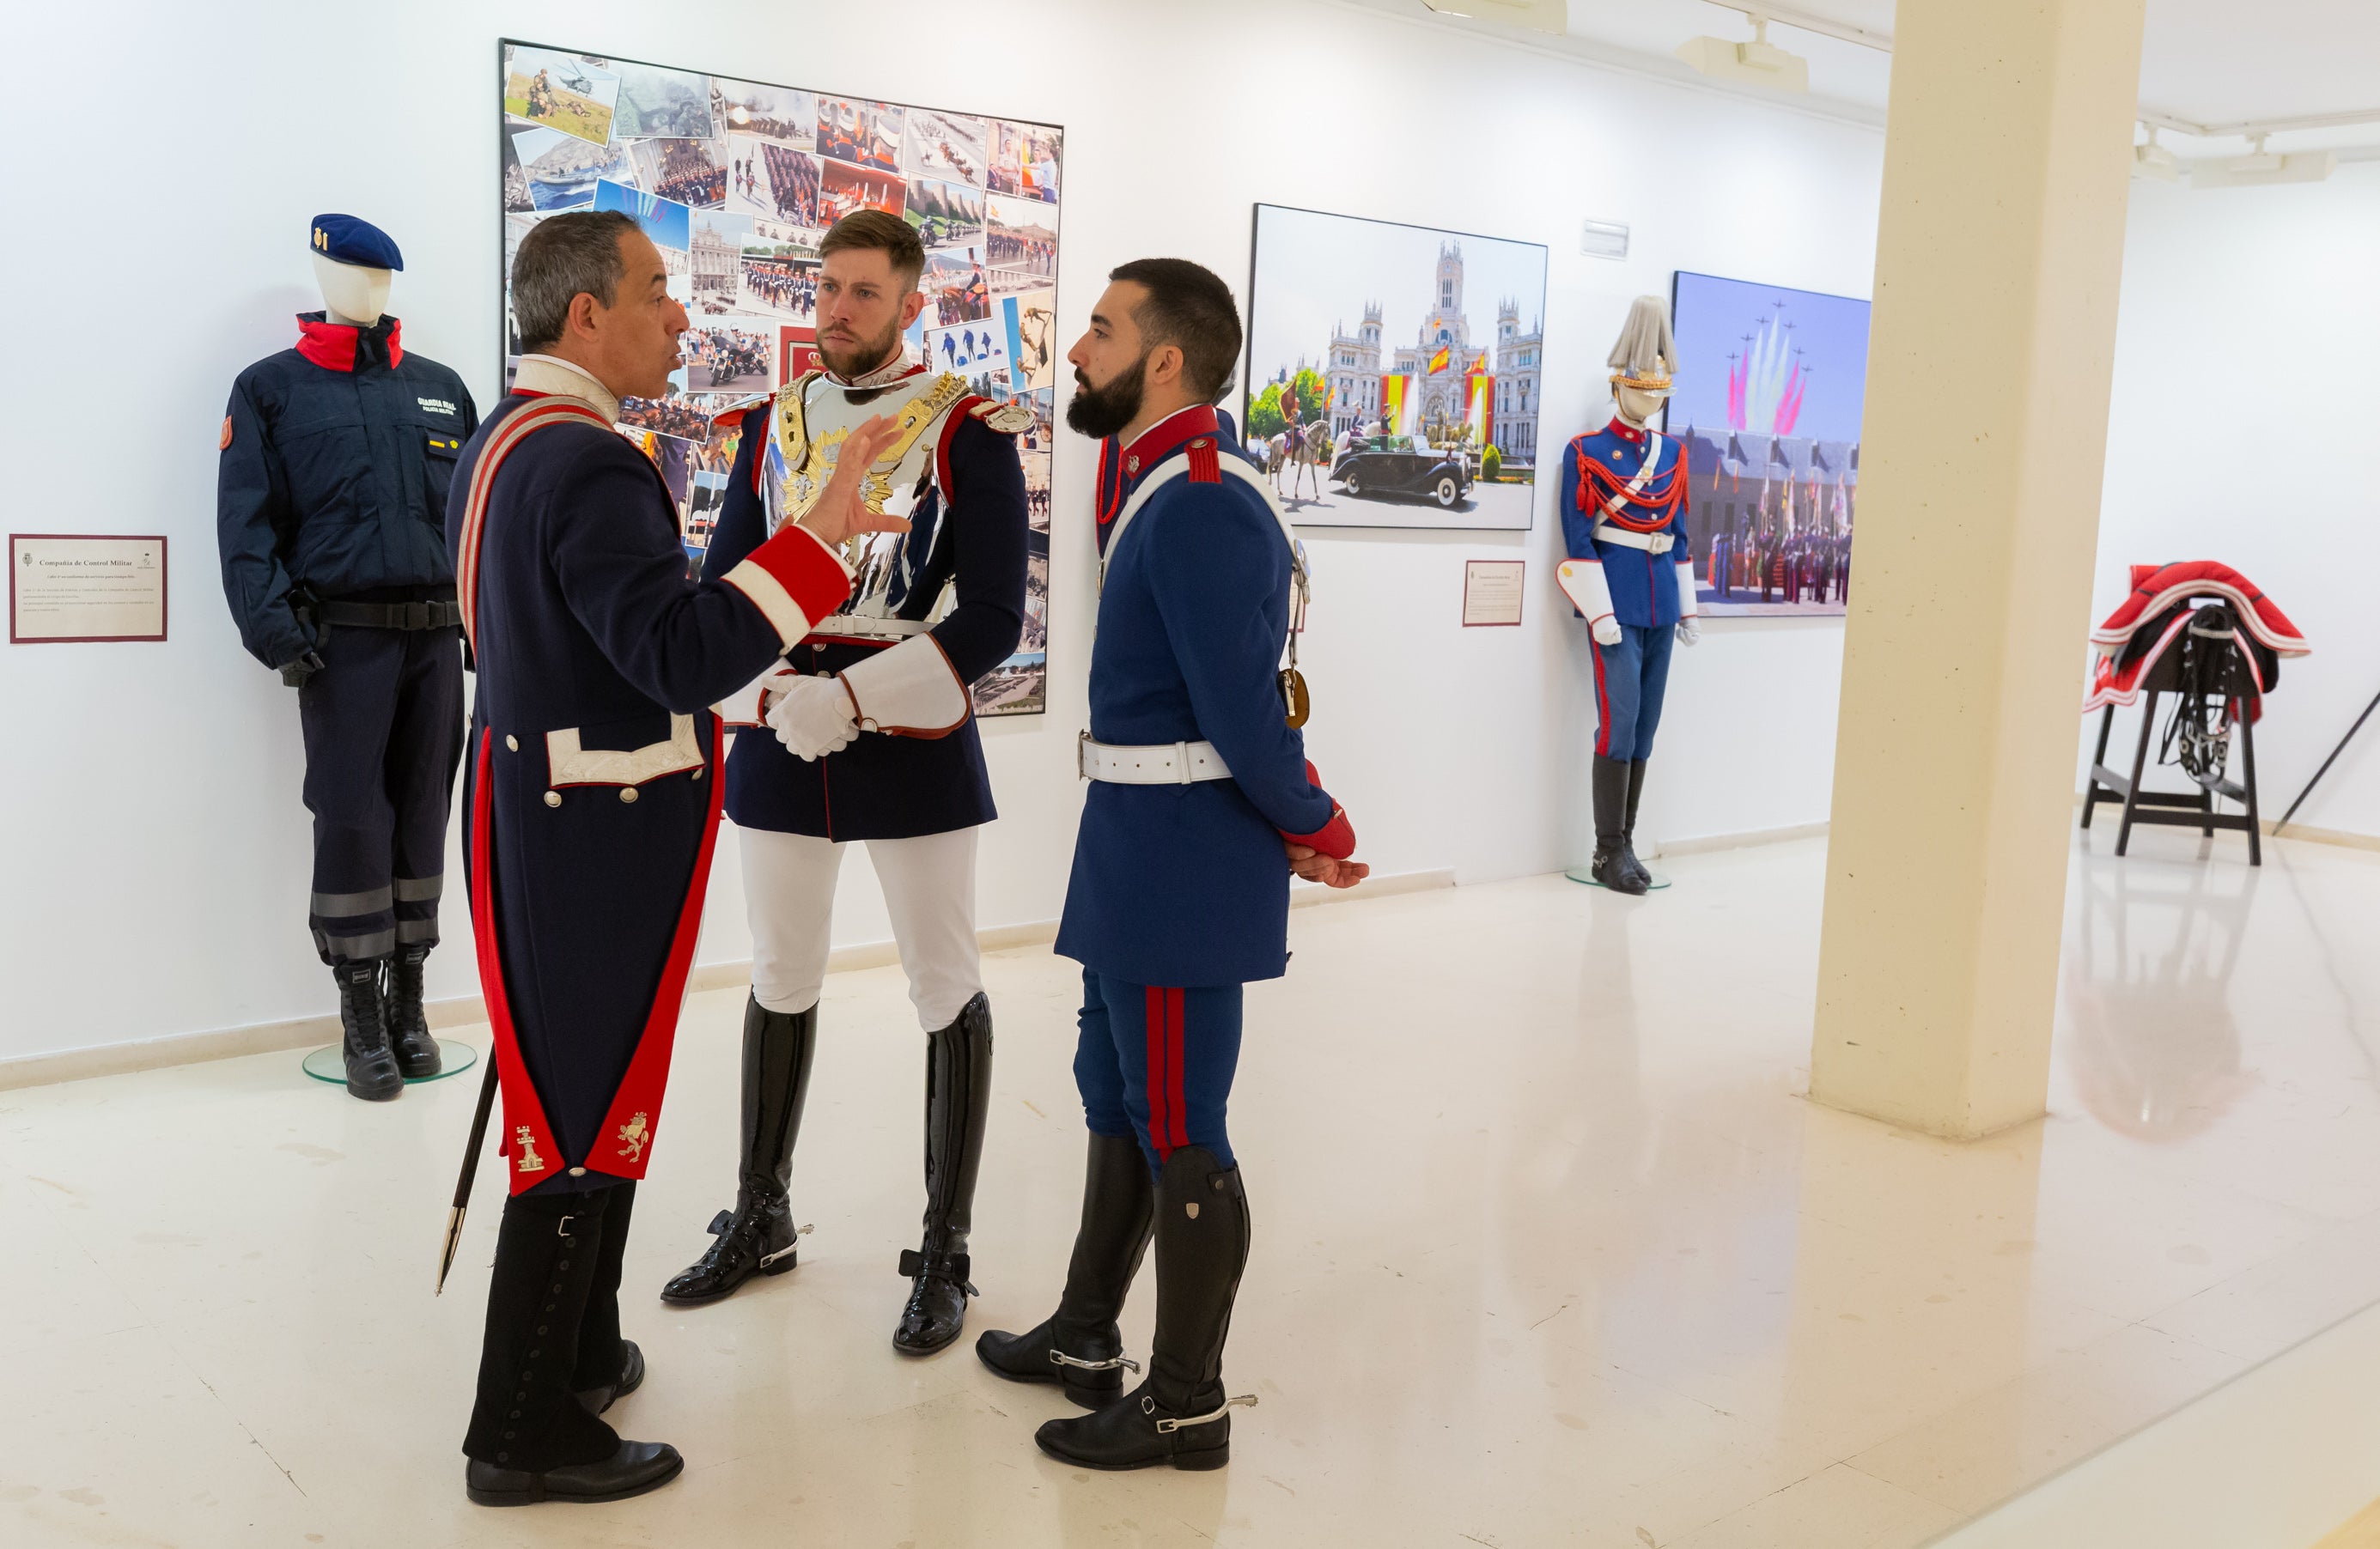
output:
[[[1176,1147],[1226,1168],[1223,1109],[1240,1068],[1240,985],[1169,990],[1083,968],[1073,1085],[1095,1135],[1140,1142],[1154,1175]]]

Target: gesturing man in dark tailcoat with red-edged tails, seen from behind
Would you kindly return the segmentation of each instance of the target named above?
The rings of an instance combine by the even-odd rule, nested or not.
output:
[[[904,526],[859,500],[897,433],[866,419],[852,476],[690,581],[669,485],[614,431],[621,397],[666,390],[688,326],[659,250],[626,214],[557,214],[521,240],[512,305],[528,350],[447,512],[478,671],[464,811],[509,1185],[462,1444],[483,1506],[612,1501],[683,1468],[600,1416],[645,1380],[619,1278],[719,835],[709,707],[843,604],[835,545]]]

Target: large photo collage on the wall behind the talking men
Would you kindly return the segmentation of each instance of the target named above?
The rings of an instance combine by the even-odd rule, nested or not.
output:
[[[521,362],[512,255],[538,221],[619,209],[662,250],[693,328],[659,400],[621,405],[621,435],[678,497],[700,571],[735,466],[719,416],[776,393],[816,355],[819,238],[885,209],[926,240],[926,312],[909,350],[969,388],[1050,416],[1066,131],[828,86],[771,86],[545,43],[497,43],[505,385]],[[964,357],[964,359],[962,359]],[[754,419],[754,424],[759,424]],[[1019,438],[1033,504],[1028,628],[976,685],[976,714],[1047,709],[1050,438]]]

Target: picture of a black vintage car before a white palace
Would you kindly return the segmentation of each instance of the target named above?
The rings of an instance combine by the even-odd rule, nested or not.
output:
[[[1540,243],[1257,205],[1250,269],[1240,426],[1290,521],[1530,526]]]

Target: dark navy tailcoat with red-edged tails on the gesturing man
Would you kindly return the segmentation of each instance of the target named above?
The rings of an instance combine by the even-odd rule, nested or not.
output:
[[[464,811],[514,1192],[643,1175],[716,833],[709,707],[850,592],[804,531],[688,581],[659,471],[583,421],[519,443],[469,547],[478,454],[531,402],[464,447],[447,523],[476,557]]]

